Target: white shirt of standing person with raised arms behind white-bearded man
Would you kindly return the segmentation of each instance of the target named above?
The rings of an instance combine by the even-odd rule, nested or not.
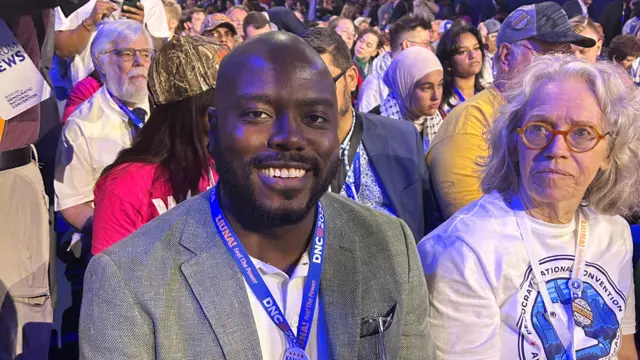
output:
[[[56,13],[56,31],[73,30],[82,24],[82,21],[91,15],[93,7],[97,0],[89,0],[86,4],[74,11],[69,17],[64,16],[60,7],[55,9]],[[164,12],[164,5],[161,0],[141,0],[144,5],[144,23],[147,30],[153,37],[170,38],[169,25],[167,25],[167,16]],[[111,14],[111,17],[103,21],[112,21],[117,19],[119,14]],[[100,24],[98,24],[100,26]],[[91,39],[82,52],[76,55],[71,62],[71,81],[75,85],[78,81],[86,78],[95,69],[91,60],[91,42],[96,36],[97,29],[91,33]]]

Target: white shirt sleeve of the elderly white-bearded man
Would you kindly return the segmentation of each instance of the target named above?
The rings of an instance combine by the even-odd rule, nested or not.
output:
[[[56,211],[93,200],[95,179],[89,146],[73,116],[62,130],[53,185]]]

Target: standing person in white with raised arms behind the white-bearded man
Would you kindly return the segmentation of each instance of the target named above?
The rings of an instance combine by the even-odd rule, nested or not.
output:
[[[144,23],[149,33],[157,39],[157,46],[171,37],[161,0],[141,0],[137,9],[129,6],[121,9],[120,5],[108,0],[89,0],[68,16],[57,7],[55,19],[55,51],[63,58],[72,59],[72,85],[93,72],[89,49],[97,31],[106,22],[131,19]]]

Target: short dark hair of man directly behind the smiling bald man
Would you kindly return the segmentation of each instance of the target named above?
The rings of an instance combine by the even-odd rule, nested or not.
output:
[[[311,45],[318,54],[329,54],[333,66],[340,71],[347,70],[353,65],[349,47],[337,32],[324,27],[314,27],[301,32],[298,36]]]

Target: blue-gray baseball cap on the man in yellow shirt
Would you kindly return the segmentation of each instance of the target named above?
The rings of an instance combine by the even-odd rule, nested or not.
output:
[[[595,40],[573,31],[564,10],[550,1],[514,10],[502,23],[496,43],[500,46],[526,39],[554,44],[569,43],[585,48],[596,45]]]

